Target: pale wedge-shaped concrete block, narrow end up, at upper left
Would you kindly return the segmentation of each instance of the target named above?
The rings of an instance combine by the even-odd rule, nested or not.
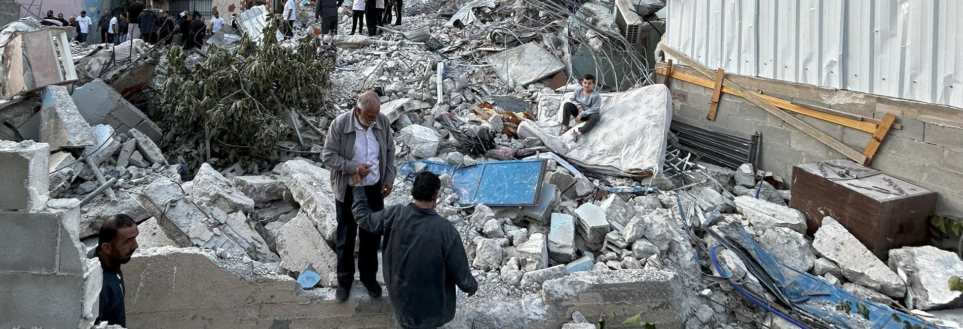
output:
[[[47,86],[43,92],[40,108],[40,140],[50,145],[50,150],[79,148],[97,142],[91,125],[77,111],[64,86]]]

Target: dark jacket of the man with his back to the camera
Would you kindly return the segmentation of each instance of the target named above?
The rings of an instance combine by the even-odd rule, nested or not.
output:
[[[440,327],[455,317],[455,286],[468,293],[478,282],[458,231],[448,219],[414,203],[372,213],[364,188],[353,188],[351,212],[361,229],[383,235],[385,286],[405,327]]]

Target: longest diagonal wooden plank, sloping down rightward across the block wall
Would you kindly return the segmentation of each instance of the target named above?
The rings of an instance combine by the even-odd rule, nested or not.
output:
[[[688,57],[680,54],[679,52],[673,50],[672,48],[669,48],[668,46],[662,43],[659,44],[659,48],[662,49],[665,53],[671,55],[672,57],[677,58],[682,62],[692,66],[692,68],[695,68],[695,70],[699,71],[699,73],[702,73],[702,75],[705,75],[706,77],[713,76],[713,71],[710,71],[708,68],[706,68],[705,66],[702,66],[699,63],[695,63],[695,61],[690,60]],[[809,125],[808,123],[803,122],[799,118],[793,116],[793,114],[788,114],[782,110],[779,110],[772,104],[769,104],[762,98],[759,98],[759,96],[756,93],[746,91],[745,89],[742,89],[742,87],[734,84],[728,79],[723,78],[722,81],[726,86],[729,87],[729,89],[733,89],[740,92],[740,94],[742,95],[742,98],[745,98],[752,104],[755,104],[760,108],[763,108],[763,110],[766,110],[766,112],[768,112],[769,114],[775,115],[779,119],[786,121],[786,123],[789,123],[790,125],[794,126],[796,129],[802,131],[803,133],[806,133],[806,135],[809,135],[814,139],[820,140],[820,142],[822,142],[823,144],[826,144],[827,146],[833,148],[837,152],[840,152],[843,155],[845,155],[846,158],[849,158],[859,164],[863,164],[866,162],[867,157],[865,155],[853,149],[852,147],[847,146],[842,141],[833,139],[829,135],[826,135],[826,133],[821,132],[819,129],[816,129],[815,127]]]

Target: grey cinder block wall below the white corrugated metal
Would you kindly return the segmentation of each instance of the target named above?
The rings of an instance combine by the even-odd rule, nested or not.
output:
[[[703,78],[690,67],[675,65],[673,71]],[[936,213],[963,217],[963,109],[746,76],[726,74],[726,79],[744,89],[850,114],[879,119],[887,113],[897,115],[896,123],[902,130],[890,130],[870,166],[938,192]],[[663,82],[664,76],[657,75],[657,81]],[[787,184],[794,164],[846,158],[739,96],[723,93],[716,120],[709,120],[706,115],[713,89],[678,79],[672,79],[669,85],[673,119],[742,137],[761,132],[761,169],[783,177]],[[795,116],[859,151],[872,137],[832,122]]]

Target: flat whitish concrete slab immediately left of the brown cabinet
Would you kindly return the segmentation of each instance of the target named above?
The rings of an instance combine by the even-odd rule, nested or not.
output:
[[[736,210],[758,231],[787,227],[795,232],[806,233],[806,216],[793,208],[742,195],[736,197]]]

